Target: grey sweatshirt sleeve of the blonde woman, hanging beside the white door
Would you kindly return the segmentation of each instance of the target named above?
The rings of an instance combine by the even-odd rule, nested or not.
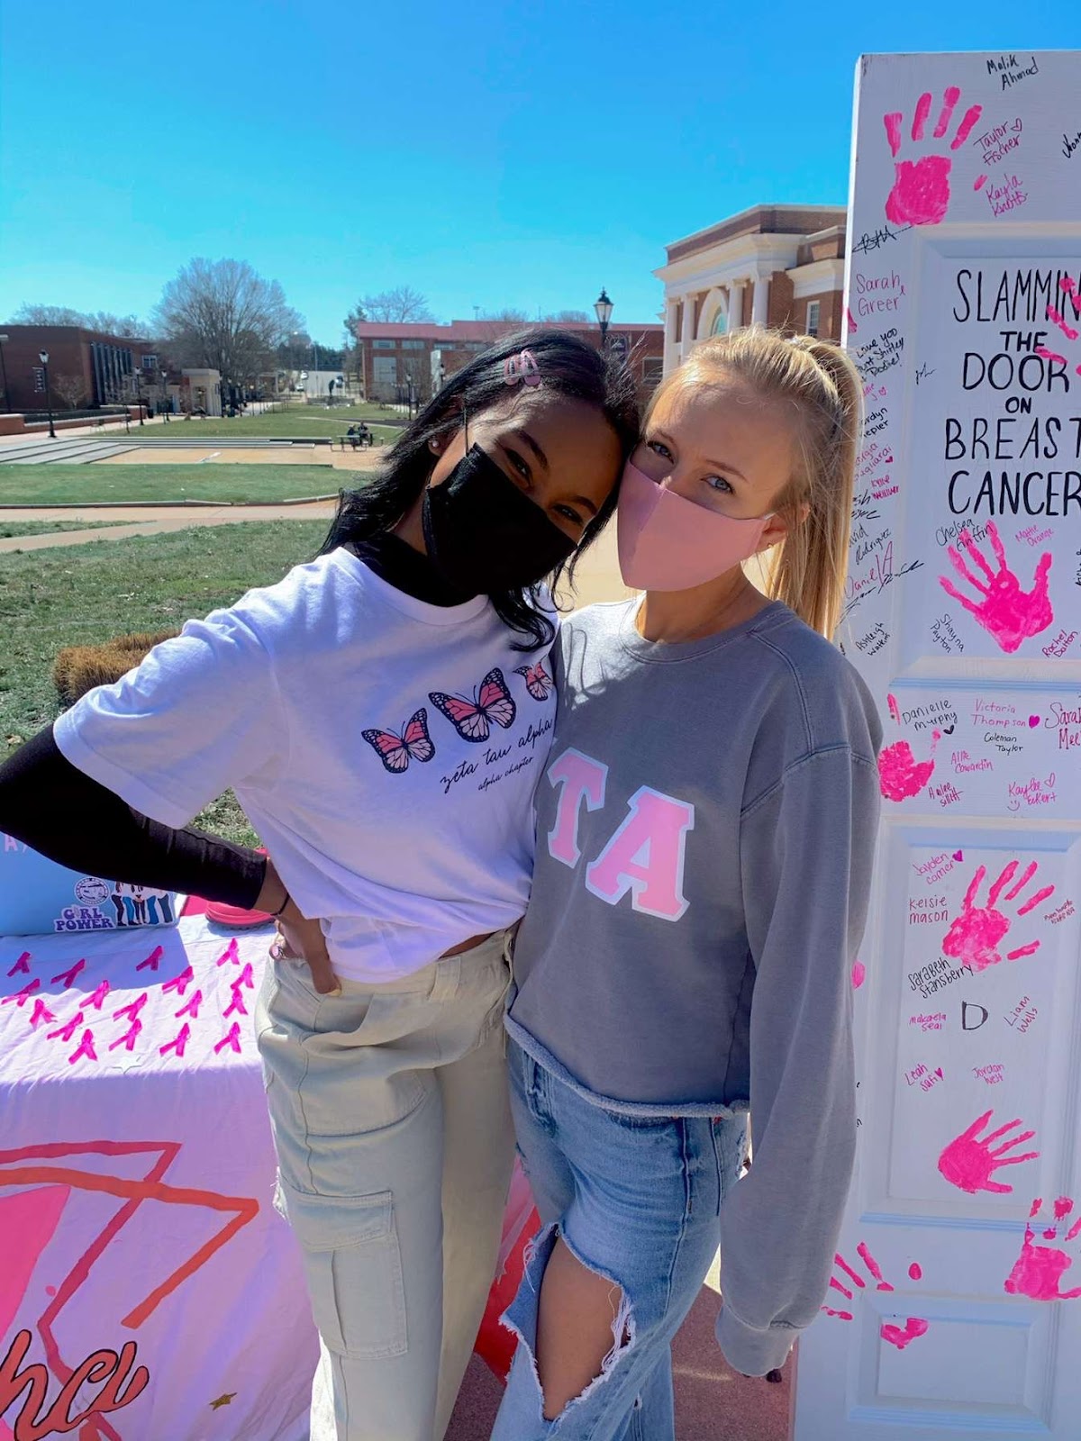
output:
[[[856,1147],[852,963],[879,813],[873,758],[797,762],[741,821],[754,1167],[721,1206],[721,1347],[780,1366],[826,1295]]]

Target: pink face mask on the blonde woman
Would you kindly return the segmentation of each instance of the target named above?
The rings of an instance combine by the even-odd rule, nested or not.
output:
[[[627,461],[615,514],[624,582],[636,591],[686,591],[754,555],[773,512],[734,520],[677,496]]]

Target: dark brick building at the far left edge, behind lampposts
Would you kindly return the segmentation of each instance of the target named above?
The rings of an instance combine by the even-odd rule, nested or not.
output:
[[[3,326],[0,333],[7,336],[3,373],[9,411],[46,409],[40,350],[49,354],[55,411],[134,402],[137,380],[144,396],[161,383],[157,352],[150,340],[107,336],[79,326]]]

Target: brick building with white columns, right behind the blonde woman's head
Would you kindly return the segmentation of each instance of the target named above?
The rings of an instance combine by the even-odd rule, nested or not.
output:
[[[669,245],[664,373],[696,340],[739,326],[840,339],[843,205],[757,205]]]

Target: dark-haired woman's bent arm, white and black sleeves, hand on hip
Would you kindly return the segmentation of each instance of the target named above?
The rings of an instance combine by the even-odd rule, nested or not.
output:
[[[287,631],[291,604],[249,591],[82,696],[0,767],[0,829],[108,879],[270,911],[316,989],[332,991],[321,925],[288,898],[272,860],[189,826],[229,787],[267,791],[288,771],[288,718],[265,637]]]

